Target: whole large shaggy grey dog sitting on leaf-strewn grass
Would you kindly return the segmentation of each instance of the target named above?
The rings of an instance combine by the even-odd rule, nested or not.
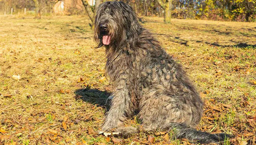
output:
[[[194,129],[204,103],[183,67],[175,62],[153,35],[138,23],[123,2],[99,5],[95,18],[98,46],[106,48],[106,72],[114,83],[111,108],[102,130],[117,128],[123,135],[157,129],[172,130],[177,138],[212,143],[231,137]],[[139,111],[141,127],[121,127]]]

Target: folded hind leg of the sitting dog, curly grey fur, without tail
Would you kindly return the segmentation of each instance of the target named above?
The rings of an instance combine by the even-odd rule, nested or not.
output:
[[[167,96],[159,88],[152,88],[141,97],[139,116],[146,130],[156,130],[164,124],[175,122],[193,124],[191,104],[184,103],[182,96]],[[192,126],[196,126],[198,122]]]

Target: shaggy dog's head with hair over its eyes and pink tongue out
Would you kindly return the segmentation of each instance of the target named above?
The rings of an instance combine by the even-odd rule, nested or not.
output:
[[[122,47],[138,41],[140,24],[131,6],[123,2],[99,5],[94,24],[94,39],[102,46]]]

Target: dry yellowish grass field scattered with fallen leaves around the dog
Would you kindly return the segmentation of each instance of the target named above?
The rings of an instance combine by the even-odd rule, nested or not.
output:
[[[112,84],[87,16],[0,21],[0,145],[191,144],[166,132],[97,134]],[[197,129],[236,135],[226,145],[255,145],[256,23],[171,21],[140,17],[197,85],[205,102]]]

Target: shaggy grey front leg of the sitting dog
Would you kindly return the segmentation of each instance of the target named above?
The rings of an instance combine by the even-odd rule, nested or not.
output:
[[[127,85],[118,83],[116,90],[112,94],[111,108],[102,126],[102,130],[110,130],[123,124],[127,116],[131,116],[131,97]]]

